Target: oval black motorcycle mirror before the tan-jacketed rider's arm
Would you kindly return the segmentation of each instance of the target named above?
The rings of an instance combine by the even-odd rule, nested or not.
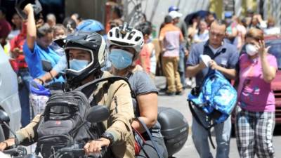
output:
[[[91,123],[98,123],[105,121],[110,116],[110,112],[107,107],[103,105],[95,105],[90,108],[86,120]]]

